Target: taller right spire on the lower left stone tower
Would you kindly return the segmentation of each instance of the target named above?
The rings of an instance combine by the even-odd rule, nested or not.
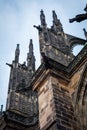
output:
[[[29,53],[27,54],[27,67],[28,67],[28,70],[35,72],[35,56],[33,53],[32,39],[30,39]]]

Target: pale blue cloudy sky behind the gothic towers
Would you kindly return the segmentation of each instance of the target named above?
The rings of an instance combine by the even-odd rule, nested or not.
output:
[[[69,18],[85,13],[86,0],[0,0],[0,105],[6,103],[10,68],[6,66],[14,59],[16,44],[20,44],[20,62],[26,60],[29,39],[33,39],[36,68],[40,65],[38,32],[33,25],[40,24],[43,9],[48,27],[52,25],[52,10],[55,10],[64,32],[85,38],[87,21],[69,23]]]

